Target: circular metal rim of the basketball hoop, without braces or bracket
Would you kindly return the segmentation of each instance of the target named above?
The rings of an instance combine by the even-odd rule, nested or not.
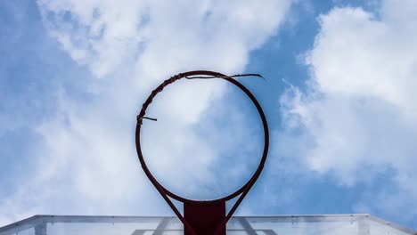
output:
[[[260,159],[257,170],[249,178],[249,181],[246,182],[243,186],[241,186],[241,188],[239,190],[236,190],[233,193],[231,193],[231,194],[229,194],[229,195],[227,195],[223,198],[220,198],[220,199],[212,199],[212,200],[185,199],[184,197],[176,195],[175,193],[166,189],[163,185],[161,185],[155,179],[153,174],[151,174],[151,171],[149,170],[148,166],[146,166],[146,163],[145,163],[144,158],[143,158],[142,149],[141,149],[141,126],[142,126],[142,121],[143,121],[143,118],[145,117],[146,109],[151,104],[151,101],[153,100],[153,98],[158,93],[162,92],[162,90],[167,85],[170,85],[170,84],[172,84],[172,83],[176,82],[177,80],[180,80],[181,78],[184,78],[184,77],[199,76],[199,75],[213,76],[213,77],[216,77],[216,78],[221,78],[221,79],[224,79],[224,80],[232,83],[233,85],[236,85],[238,88],[240,88],[241,91],[249,97],[250,101],[252,101],[252,103],[257,108],[259,117],[261,118],[261,121],[262,121],[262,126],[264,128],[264,150],[263,150],[262,158]],[[261,172],[262,172],[262,170],[265,166],[265,163],[266,163],[266,157],[267,157],[268,148],[269,148],[269,129],[268,129],[268,124],[267,124],[266,116],[265,116],[265,113],[264,113],[263,109],[261,108],[261,106],[260,106],[259,102],[257,101],[257,99],[255,98],[255,96],[252,93],[250,93],[249,90],[244,85],[241,85],[241,83],[239,83],[238,81],[233,79],[233,77],[228,77],[228,76],[225,76],[224,74],[221,74],[221,73],[217,73],[217,72],[213,72],[213,71],[207,71],[207,70],[196,70],[196,71],[180,73],[180,74],[177,74],[176,76],[170,77],[167,80],[165,80],[164,82],[162,82],[157,88],[155,88],[151,92],[150,96],[143,103],[140,114],[137,116],[137,123],[136,123],[136,130],[135,130],[135,143],[136,143],[137,156],[139,158],[139,161],[141,162],[143,171],[146,174],[146,176],[149,178],[149,180],[155,186],[158,185],[172,199],[176,199],[178,201],[181,201],[181,202],[184,202],[184,203],[189,203],[189,204],[205,204],[205,205],[208,205],[208,204],[216,204],[216,203],[219,203],[219,202],[222,202],[222,201],[227,201],[227,200],[233,199],[233,198],[237,197],[238,195],[240,195],[245,189],[247,189],[248,186],[250,188],[251,184],[255,183],[258,180],[258,177],[261,174]]]

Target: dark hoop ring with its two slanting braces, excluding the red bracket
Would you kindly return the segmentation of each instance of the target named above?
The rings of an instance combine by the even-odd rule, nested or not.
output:
[[[141,141],[140,141],[140,139],[141,139],[141,126],[143,124],[143,119],[153,119],[153,118],[145,117],[146,109],[151,104],[153,98],[158,93],[162,92],[163,89],[167,85],[173,84],[174,82],[176,82],[177,80],[180,80],[182,78],[187,78],[187,79],[220,78],[220,79],[224,79],[224,80],[232,83],[233,85],[236,85],[238,88],[241,89],[241,91],[243,93],[245,93],[249,97],[250,101],[252,101],[252,103],[255,105],[255,107],[258,110],[259,117],[261,118],[261,121],[262,121],[263,129],[264,129],[264,150],[263,150],[262,158],[260,159],[257,170],[250,177],[249,181],[246,182],[240,189],[238,189],[238,190],[234,191],[233,193],[231,193],[231,194],[229,194],[229,195],[227,195],[223,198],[220,198],[220,199],[194,200],[194,199],[185,199],[184,197],[176,195],[175,193],[171,192],[170,190],[168,190],[164,186],[162,186],[155,179],[155,177],[151,174],[151,171],[149,170],[148,166],[146,166],[146,163],[143,159],[143,153],[142,153]],[[233,79],[233,77],[225,76],[224,74],[221,74],[221,73],[217,73],[217,72],[213,72],[213,71],[206,71],[206,70],[196,70],[196,71],[189,71],[189,72],[185,72],[185,73],[180,73],[180,74],[177,74],[176,76],[170,77],[167,80],[165,80],[164,82],[162,82],[157,88],[155,88],[151,92],[150,96],[143,103],[140,114],[137,116],[137,124],[136,124],[136,130],[135,130],[135,142],[136,142],[137,156],[139,158],[139,161],[141,162],[143,172],[146,174],[146,176],[149,178],[149,180],[155,186],[155,188],[159,191],[159,194],[162,196],[162,198],[164,198],[167,201],[169,207],[171,207],[173,209],[174,213],[176,213],[178,218],[184,223],[184,226],[186,227],[186,229],[188,229],[188,231],[191,234],[195,234],[195,231],[190,226],[190,224],[186,220],[184,220],[184,216],[181,215],[181,213],[178,211],[178,209],[176,209],[176,207],[174,206],[172,201],[170,199],[168,199],[168,197],[183,202],[184,207],[185,206],[187,206],[187,207],[200,207],[200,206],[202,206],[202,207],[210,207],[210,206],[217,207],[218,205],[225,205],[226,201],[228,201],[230,199],[234,199],[234,198],[238,197],[239,195],[241,195],[241,197],[239,199],[237,199],[236,203],[234,204],[232,209],[229,211],[229,213],[222,220],[222,223],[217,226],[218,227],[217,230],[216,230],[216,234],[217,234],[217,233],[223,232],[221,230],[225,230],[225,227],[222,227],[222,226],[225,226],[225,223],[227,223],[227,221],[233,215],[234,211],[237,209],[237,207],[239,207],[239,205],[241,204],[242,199],[244,199],[244,197],[249,192],[251,187],[258,180],[258,177],[261,174],[261,172],[262,172],[262,170],[265,166],[266,157],[267,157],[268,148],[269,148],[269,129],[268,129],[268,125],[267,125],[267,121],[266,121],[266,117],[265,117],[263,109],[261,108],[261,106],[258,103],[255,96],[252,93],[250,93],[249,90],[245,86],[241,85],[241,83],[239,83],[238,81]]]

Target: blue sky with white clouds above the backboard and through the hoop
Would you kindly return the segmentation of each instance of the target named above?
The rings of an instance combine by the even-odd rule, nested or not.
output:
[[[415,42],[415,0],[1,1],[0,226],[173,215],[140,167],[135,117],[161,81],[207,69],[266,77],[238,78],[271,148],[237,215],[417,229]],[[144,158],[184,197],[225,196],[258,166],[258,114],[225,81],[170,85],[148,116]]]

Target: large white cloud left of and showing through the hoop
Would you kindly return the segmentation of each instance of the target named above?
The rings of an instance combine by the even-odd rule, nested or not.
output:
[[[87,93],[87,99],[82,102],[63,88],[54,92],[60,109],[36,127],[44,141],[43,146],[33,150],[36,163],[27,175],[21,176],[24,183],[20,189],[0,203],[9,221],[32,211],[83,215],[167,212],[165,205],[160,208],[162,200],[144,179],[135,157],[135,115],[145,95],[162,79],[184,70],[213,69],[227,74],[241,71],[249,52],[274,35],[290,0],[263,4],[40,0],[38,6],[46,28],[63,50],[90,69],[93,77],[101,79],[74,77],[85,79],[86,90],[81,92]],[[150,158],[150,164],[184,180],[173,187],[198,193],[197,186],[202,184],[221,192],[222,185],[213,182],[216,172],[210,166],[230,152],[226,144],[237,140],[233,134],[243,136],[238,142],[244,145],[241,148],[255,150],[246,144],[252,130],[241,128],[247,121],[241,110],[225,109],[236,102],[221,104],[229,91],[225,83],[201,84],[190,82],[170,88],[175,88],[175,93],[167,92],[167,103],[152,114],[159,121],[146,123],[157,126],[152,127],[155,129],[147,139],[150,155],[167,158],[164,154],[170,153],[181,165],[174,166],[176,162],[169,158]],[[217,107],[211,115],[228,115],[224,122],[227,128],[205,119],[209,107]],[[213,128],[196,126],[201,120]],[[181,130],[179,135],[177,130]],[[212,139],[205,142],[200,138],[201,131]],[[213,138],[216,131],[223,131],[224,139]],[[160,147],[158,142],[163,141],[166,145]],[[184,148],[178,148],[181,145]],[[190,158],[196,153],[200,153],[198,158]],[[246,166],[239,167],[247,171]],[[190,180],[188,170],[190,175],[200,177]]]

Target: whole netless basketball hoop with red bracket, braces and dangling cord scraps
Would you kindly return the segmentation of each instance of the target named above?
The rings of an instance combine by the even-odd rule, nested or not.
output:
[[[137,124],[136,124],[136,132],[135,132],[135,142],[136,142],[136,152],[141,162],[142,168],[146,176],[149,178],[153,186],[159,191],[159,194],[162,196],[163,199],[166,200],[169,207],[174,211],[176,216],[181,220],[184,224],[184,234],[193,234],[193,235],[200,235],[200,234],[216,234],[221,235],[225,234],[225,225],[232,217],[233,213],[236,211],[237,207],[240,206],[241,201],[245,198],[248,194],[249,190],[252,188],[254,183],[258,180],[259,175],[264,168],[266,157],[268,153],[269,147],[269,130],[268,125],[266,122],[266,117],[264,111],[262,110],[260,104],[256,100],[255,96],[249,92],[249,90],[241,85],[238,81],[233,79],[233,77],[244,77],[244,76],[258,76],[258,74],[245,74],[245,75],[235,75],[235,76],[225,76],[223,74],[213,72],[213,71],[205,71],[205,70],[197,70],[197,71],[190,71],[185,73],[177,74],[176,76],[170,77],[164,82],[162,82],[155,90],[151,92],[151,95],[146,99],[143,103],[142,109],[140,114],[137,116]],[[256,172],[250,177],[249,181],[246,182],[239,190],[234,191],[233,193],[220,198],[220,199],[212,199],[212,200],[193,200],[193,199],[185,199],[175,193],[171,192],[170,190],[166,189],[162,186],[155,177],[151,174],[148,166],[143,159],[143,153],[141,149],[141,126],[143,125],[144,119],[150,119],[156,121],[156,118],[148,118],[145,117],[146,109],[151,104],[153,98],[163,89],[170,84],[173,84],[177,80],[182,78],[186,79],[207,79],[207,78],[219,78],[224,79],[233,85],[236,85],[238,88],[241,89],[243,93],[245,93],[250,101],[255,105],[258,110],[259,117],[262,121],[262,125],[264,127],[264,150],[262,154],[262,158],[260,159],[258,168]],[[236,200],[235,204],[231,208],[231,210],[225,213],[225,202],[236,197],[239,198]],[[171,199],[176,199],[180,202],[184,203],[184,216],[178,211],[178,209],[174,206],[174,203]]]

